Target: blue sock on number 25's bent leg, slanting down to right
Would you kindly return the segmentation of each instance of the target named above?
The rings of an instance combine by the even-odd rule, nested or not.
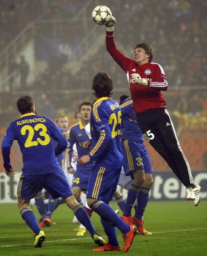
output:
[[[90,208],[105,221],[111,223],[113,226],[116,226],[122,234],[126,234],[129,231],[129,225],[126,224],[108,204],[96,200],[90,204]]]

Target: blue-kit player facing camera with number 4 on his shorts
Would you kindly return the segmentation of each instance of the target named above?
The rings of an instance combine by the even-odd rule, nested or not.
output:
[[[69,142],[69,149],[66,150],[66,164],[67,170],[69,173],[74,173],[73,176],[73,183],[72,183],[72,192],[74,197],[77,201],[80,201],[80,193],[83,191],[86,193],[87,191],[87,183],[88,177],[92,168],[92,160],[89,161],[87,164],[80,165],[79,163],[76,164],[76,171],[72,167],[72,152],[73,152],[73,145],[76,145],[77,155],[78,158],[81,156],[88,154],[90,149],[86,149],[83,147],[83,142],[87,141],[89,138],[85,132],[85,125],[89,123],[90,120],[90,112],[91,112],[91,103],[90,102],[82,102],[79,105],[79,113],[80,113],[80,120],[72,125],[68,132],[68,142]],[[67,153],[68,152],[68,153]],[[91,216],[91,209],[85,207],[85,210],[88,212],[88,215]],[[86,231],[86,228],[80,225],[77,230],[76,235],[82,236]]]

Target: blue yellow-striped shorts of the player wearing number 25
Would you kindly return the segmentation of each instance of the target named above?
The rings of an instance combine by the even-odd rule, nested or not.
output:
[[[87,185],[87,198],[101,200],[105,203],[111,201],[116,190],[121,168],[93,166]]]

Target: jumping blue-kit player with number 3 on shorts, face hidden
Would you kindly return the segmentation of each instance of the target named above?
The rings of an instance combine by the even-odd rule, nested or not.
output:
[[[123,169],[125,174],[132,178],[121,218],[126,223],[135,224],[140,234],[151,234],[143,228],[143,212],[153,183],[151,163],[143,144],[142,132],[136,120],[132,98],[122,95],[120,97],[120,108]],[[136,198],[135,215],[131,217],[131,208]]]

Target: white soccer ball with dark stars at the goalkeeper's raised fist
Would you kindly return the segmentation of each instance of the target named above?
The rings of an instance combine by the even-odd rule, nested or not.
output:
[[[98,25],[107,24],[111,16],[111,11],[107,6],[96,6],[92,11],[92,19]]]

